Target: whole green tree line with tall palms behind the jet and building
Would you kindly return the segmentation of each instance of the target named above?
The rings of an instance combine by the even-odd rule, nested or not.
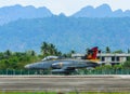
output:
[[[72,50],[68,53],[62,53],[52,43],[42,42],[40,46],[40,53],[37,54],[35,51],[25,52],[12,52],[6,50],[5,52],[0,52],[0,69],[24,69],[24,66],[29,63],[36,63],[41,61],[43,57],[49,55],[70,57],[76,51]],[[112,53],[110,49],[106,46],[105,53]],[[122,53],[118,50],[114,53]],[[130,59],[122,65],[116,66],[116,68],[130,68]]]

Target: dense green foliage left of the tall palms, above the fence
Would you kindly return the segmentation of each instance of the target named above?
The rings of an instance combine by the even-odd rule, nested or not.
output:
[[[0,53],[0,69],[23,69],[28,63],[39,61],[35,51],[27,52],[11,52],[5,51]]]

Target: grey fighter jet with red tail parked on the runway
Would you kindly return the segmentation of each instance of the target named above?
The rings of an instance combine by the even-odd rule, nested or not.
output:
[[[88,68],[99,66],[99,59],[96,59],[98,48],[93,48],[88,51],[88,54],[82,59],[76,58],[60,58],[58,56],[47,56],[39,63],[28,64],[26,69],[51,69],[52,73],[69,73],[77,68]]]

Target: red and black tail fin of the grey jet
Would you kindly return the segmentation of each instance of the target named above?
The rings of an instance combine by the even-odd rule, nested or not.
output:
[[[92,48],[91,50],[88,51],[87,59],[96,59],[98,55],[98,46]]]

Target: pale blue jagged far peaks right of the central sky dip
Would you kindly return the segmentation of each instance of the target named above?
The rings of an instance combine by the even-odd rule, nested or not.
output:
[[[80,11],[76,12],[72,15],[73,17],[126,17],[130,16],[130,11],[127,10],[122,12],[122,10],[112,11],[108,4],[102,4],[98,8],[86,6]]]

